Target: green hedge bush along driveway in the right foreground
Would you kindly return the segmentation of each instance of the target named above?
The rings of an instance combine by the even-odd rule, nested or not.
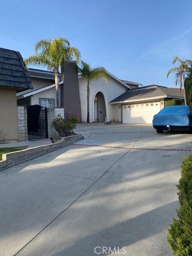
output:
[[[167,240],[174,255],[192,255],[192,154],[184,157],[181,166],[181,178],[177,185],[179,190],[180,208],[178,219],[173,218],[173,224],[168,229]]]

